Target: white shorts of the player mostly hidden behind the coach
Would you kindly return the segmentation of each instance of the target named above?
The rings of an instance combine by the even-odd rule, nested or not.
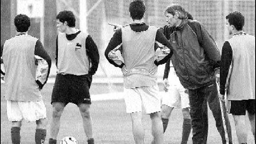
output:
[[[189,95],[185,93],[185,88],[182,85],[169,86],[168,92],[162,94],[162,105],[167,105],[172,108],[188,108]]]

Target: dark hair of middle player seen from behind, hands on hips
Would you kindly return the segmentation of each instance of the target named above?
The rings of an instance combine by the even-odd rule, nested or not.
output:
[[[142,19],[146,6],[142,0],[135,0],[130,3],[129,12],[132,19]]]

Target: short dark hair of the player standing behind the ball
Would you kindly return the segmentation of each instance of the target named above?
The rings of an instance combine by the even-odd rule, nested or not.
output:
[[[66,21],[67,26],[69,26],[69,27],[76,26],[76,18],[72,11],[63,10],[58,13],[58,15],[56,16],[56,19],[58,19],[62,23],[64,23]]]

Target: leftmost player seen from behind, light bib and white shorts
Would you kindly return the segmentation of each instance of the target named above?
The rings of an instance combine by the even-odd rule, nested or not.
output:
[[[22,120],[36,122],[35,143],[43,144],[46,136],[46,108],[40,90],[45,85],[51,67],[51,58],[38,38],[28,35],[30,18],[19,14],[14,19],[17,34],[6,40],[1,57],[5,69],[6,110],[12,122],[11,141],[20,144]],[[47,61],[43,81],[36,80],[35,56]]]

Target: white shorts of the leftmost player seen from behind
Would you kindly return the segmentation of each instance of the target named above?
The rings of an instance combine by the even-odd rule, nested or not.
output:
[[[46,107],[42,100],[37,102],[7,101],[7,116],[10,121],[35,122],[46,118]]]

